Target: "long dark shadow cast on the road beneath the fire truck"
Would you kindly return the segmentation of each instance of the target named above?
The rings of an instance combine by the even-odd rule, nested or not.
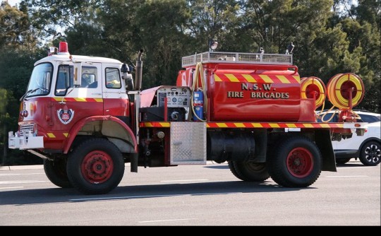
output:
[[[313,187],[303,189],[314,189]],[[202,196],[216,194],[240,194],[255,192],[299,191],[299,188],[285,188],[274,182],[253,183],[243,181],[202,182],[187,184],[152,184],[116,187],[109,194],[83,195],[75,189],[25,189],[0,191],[0,205],[25,205],[58,202],[80,202],[99,200],[148,199],[173,196]]]

